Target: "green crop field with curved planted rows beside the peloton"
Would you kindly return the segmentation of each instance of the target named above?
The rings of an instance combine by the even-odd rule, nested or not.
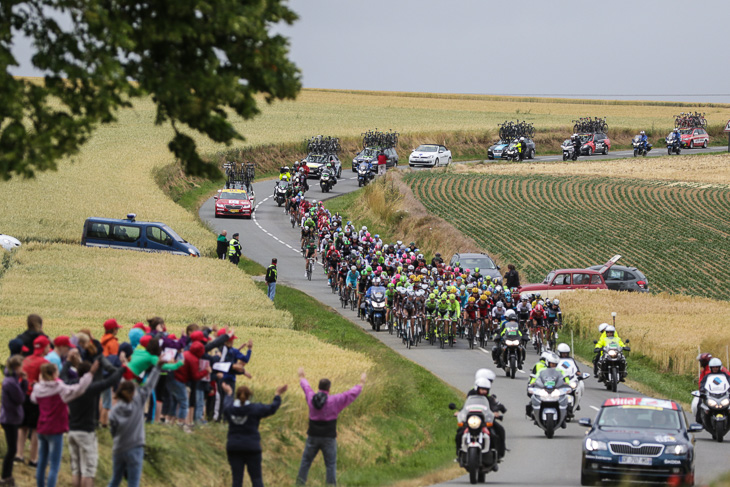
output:
[[[730,189],[608,177],[426,173],[406,180],[524,282],[547,271],[636,266],[656,291],[728,299]]]

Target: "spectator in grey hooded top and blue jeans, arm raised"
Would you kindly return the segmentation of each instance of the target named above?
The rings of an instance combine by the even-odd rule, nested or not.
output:
[[[136,352],[135,352],[136,353]],[[113,438],[112,479],[108,487],[118,487],[125,474],[129,487],[139,487],[144,459],[144,405],[160,377],[160,368],[166,364],[158,360],[144,386],[137,388],[132,380],[125,380],[117,390],[117,403],[109,414]]]

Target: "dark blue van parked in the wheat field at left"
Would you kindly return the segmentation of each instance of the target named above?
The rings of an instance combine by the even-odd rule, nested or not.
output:
[[[138,222],[136,217],[137,215],[130,213],[123,220],[87,218],[81,245],[200,257],[200,251],[183,240],[172,228],[159,222]]]

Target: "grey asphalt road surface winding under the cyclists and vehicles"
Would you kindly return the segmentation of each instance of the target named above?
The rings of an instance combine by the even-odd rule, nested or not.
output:
[[[726,148],[695,149],[683,151],[683,154],[695,152],[721,151]],[[650,155],[666,154],[663,151],[652,151]],[[633,156],[630,151],[611,152],[609,156],[593,156],[585,158],[588,160],[601,158],[616,158],[620,156]],[[681,157],[681,156],[680,156]],[[560,159],[561,156],[538,157],[537,161],[549,161]],[[582,158],[583,159],[583,158]],[[314,179],[309,180],[310,191],[307,196],[310,198],[332,198],[358,189],[354,173],[349,169],[343,170],[342,179],[334,189],[324,194],[320,191],[318,183]],[[256,193],[256,210],[251,220],[223,219],[214,217],[214,200],[211,198],[200,208],[200,217],[209,222],[217,232],[227,230],[231,235],[234,232],[241,234],[241,244],[246,257],[268,266],[272,257],[278,259],[279,282],[292,286],[324,304],[331,306],[334,310],[350,319],[352,322],[362,326],[366,333],[372,333],[383,343],[393,348],[408,359],[418,363],[433,374],[453,385],[461,391],[467,391],[473,385],[474,373],[477,369],[487,367],[495,369],[492,359],[491,346],[489,343],[486,349],[470,350],[465,340],[458,340],[453,349],[439,349],[437,346],[421,345],[407,349],[395,335],[387,331],[375,333],[370,326],[357,318],[355,312],[349,308],[343,310],[339,299],[332,294],[327,286],[327,279],[320,265],[311,281],[308,281],[304,272],[304,259],[299,248],[299,228],[292,228],[289,218],[284,214],[283,208],[276,206],[271,197],[274,182],[263,181],[254,184]],[[620,323],[619,323],[620,326]],[[597,333],[596,333],[597,334]],[[569,336],[561,336],[570,344]],[[537,361],[533,350],[528,350],[525,371],[529,371]],[[629,357],[629,376],[631,359]],[[592,372],[587,367],[582,371]],[[581,460],[581,439],[586,428],[573,422],[568,424],[567,429],[558,430],[553,439],[547,439],[543,431],[533,425],[532,421],[525,417],[525,404],[527,403],[526,384],[528,373],[518,373],[515,379],[505,377],[501,370],[497,370],[492,393],[497,395],[508,409],[503,425],[507,431],[507,447],[511,450],[500,464],[498,472],[487,475],[487,482],[490,484],[511,484],[511,485],[532,485],[539,484],[541,487],[580,485],[580,460]],[[594,418],[603,401],[613,394],[596,382],[591,377],[585,382],[585,393],[582,400],[581,411],[577,417]],[[639,393],[621,384],[618,396],[637,396]],[[689,402],[691,397],[687,398]],[[438,401],[439,398],[433,398]],[[444,403],[444,408],[447,404]],[[688,419],[692,421],[691,412],[688,411]],[[454,423],[456,421],[454,420]],[[456,430],[456,424],[454,424]],[[730,445],[727,443],[718,444],[711,440],[706,432],[696,435],[696,481],[698,485],[708,483],[728,469],[726,464]],[[453,444],[453,437],[443,438],[442,441]],[[469,484],[468,476],[464,475],[441,485],[465,485]]]

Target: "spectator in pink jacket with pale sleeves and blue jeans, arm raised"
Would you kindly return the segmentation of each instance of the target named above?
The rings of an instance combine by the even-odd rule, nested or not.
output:
[[[38,487],[56,487],[58,469],[61,466],[63,453],[63,434],[68,432],[67,403],[82,395],[91,384],[94,372],[99,369],[97,360],[91,370],[79,379],[78,384],[68,385],[58,378],[58,368],[52,363],[41,365],[41,376],[33,387],[31,402],[37,403],[40,409],[38,418],[38,467],[36,469],[36,485]],[[50,463],[46,483],[46,466]]]

